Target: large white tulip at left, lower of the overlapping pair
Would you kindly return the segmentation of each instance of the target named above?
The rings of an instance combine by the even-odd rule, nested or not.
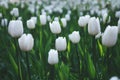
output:
[[[18,39],[18,43],[22,51],[30,51],[34,46],[34,39],[31,34],[23,34]]]

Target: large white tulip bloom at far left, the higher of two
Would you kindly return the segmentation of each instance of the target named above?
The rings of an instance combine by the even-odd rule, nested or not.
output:
[[[11,20],[8,25],[8,33],[12,37],[19,37],[23,34],[23,23],[20,20]]]

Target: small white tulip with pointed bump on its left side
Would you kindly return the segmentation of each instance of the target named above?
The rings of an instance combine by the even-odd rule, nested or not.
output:
[[[79,43],[79,41],[80,41],[79,31],[73,31],[72,34],[69,34],[68,37],[72,43]]]

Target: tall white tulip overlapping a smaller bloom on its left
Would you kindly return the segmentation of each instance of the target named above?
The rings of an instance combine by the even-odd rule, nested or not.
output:
[[[88,33],[90,35],[97,35],[100,31],[100,21],[99,19],[92,17],[90,18],[89,22],[88,22]]]

